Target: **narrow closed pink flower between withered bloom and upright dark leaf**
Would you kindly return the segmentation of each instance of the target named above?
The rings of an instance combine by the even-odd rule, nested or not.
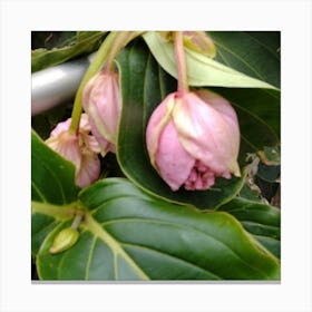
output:
[[[89,115],[91,131],[97,138],[101,155],[116,153],[121,96],[117,72],[100,71],[84,89],[82,105]]]

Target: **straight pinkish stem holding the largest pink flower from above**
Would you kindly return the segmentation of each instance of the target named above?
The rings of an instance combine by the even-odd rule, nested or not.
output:
[[[188,82],[182,31],[175,32],[175,58],[177,66],[177,90],[178,94],[183,95],[188,92]]]

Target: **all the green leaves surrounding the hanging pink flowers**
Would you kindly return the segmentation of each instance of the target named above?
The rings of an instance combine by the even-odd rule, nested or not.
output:
[[[208,33],[216,58],[187,50],[188,80],[234,106],[242,177],[217,178],[208,191],[172,192],[152,167],[145,129],[176,90],[177,72],[173,45],[146,32],[116,58],[123,97],[117,153],[101,158],[98,182],[77,187],[74,165],[42,140],[68,110],[32,120],[31,253],[40,280],[280,279],[281,211],[270,204],[280,183],[280,33]],[[69,45],[33,52],[32,70],[90,52],[104,37],[72,35]],[[264,187],[273,191],[266,196]],[[77,214],[84,216],[78,242],[51,254],[55,237]]]

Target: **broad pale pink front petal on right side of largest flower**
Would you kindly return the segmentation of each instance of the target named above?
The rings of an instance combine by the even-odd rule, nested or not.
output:
[[[227,117],[188,92],[176,103],[173,118],[181,143],[189,155],[216,174],[228,172],[233,160],[236,162],[238,144],[235,125],[228,123]]]

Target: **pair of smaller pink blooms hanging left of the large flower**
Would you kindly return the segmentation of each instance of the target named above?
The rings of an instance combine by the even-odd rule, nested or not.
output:
[[[98,154],[116,153],[121,98],[118,74],[101,71],[84,89],[84,108],[78,133],[70,133],[71,118],[59,123],[46,140],[47,145],[71,162],[76,184],[86,187],[98,179]]]

